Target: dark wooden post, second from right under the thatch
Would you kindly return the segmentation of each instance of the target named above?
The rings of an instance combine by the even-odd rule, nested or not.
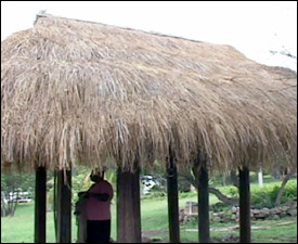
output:
[[[198,239],[199,243],[210,243],[208,169],[206,160],[198,171]]]

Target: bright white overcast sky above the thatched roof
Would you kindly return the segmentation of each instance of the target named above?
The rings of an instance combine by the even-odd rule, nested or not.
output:
[[[296,1],[1,1],[1,41],[33,28],[39,11],[230,44],[248,59],[297,72]]]

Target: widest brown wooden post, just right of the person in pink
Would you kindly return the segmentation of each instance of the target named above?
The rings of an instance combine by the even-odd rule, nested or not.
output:
[[[141,243],[140,170],[117,171],[117,241]]]

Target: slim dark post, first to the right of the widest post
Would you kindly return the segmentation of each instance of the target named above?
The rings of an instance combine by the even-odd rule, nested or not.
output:
[[[167,189],[168,189],[168,218],[170,243],[180,243],[179,231],[179,203],[178,203],[178,177],[177,167],[173,158],[170,157],[167,169]]]

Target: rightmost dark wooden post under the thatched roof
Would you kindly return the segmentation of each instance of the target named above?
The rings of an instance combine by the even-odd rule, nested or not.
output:
[[[250,243],[249,169],[239,169],[239,235],[241,243]]]

